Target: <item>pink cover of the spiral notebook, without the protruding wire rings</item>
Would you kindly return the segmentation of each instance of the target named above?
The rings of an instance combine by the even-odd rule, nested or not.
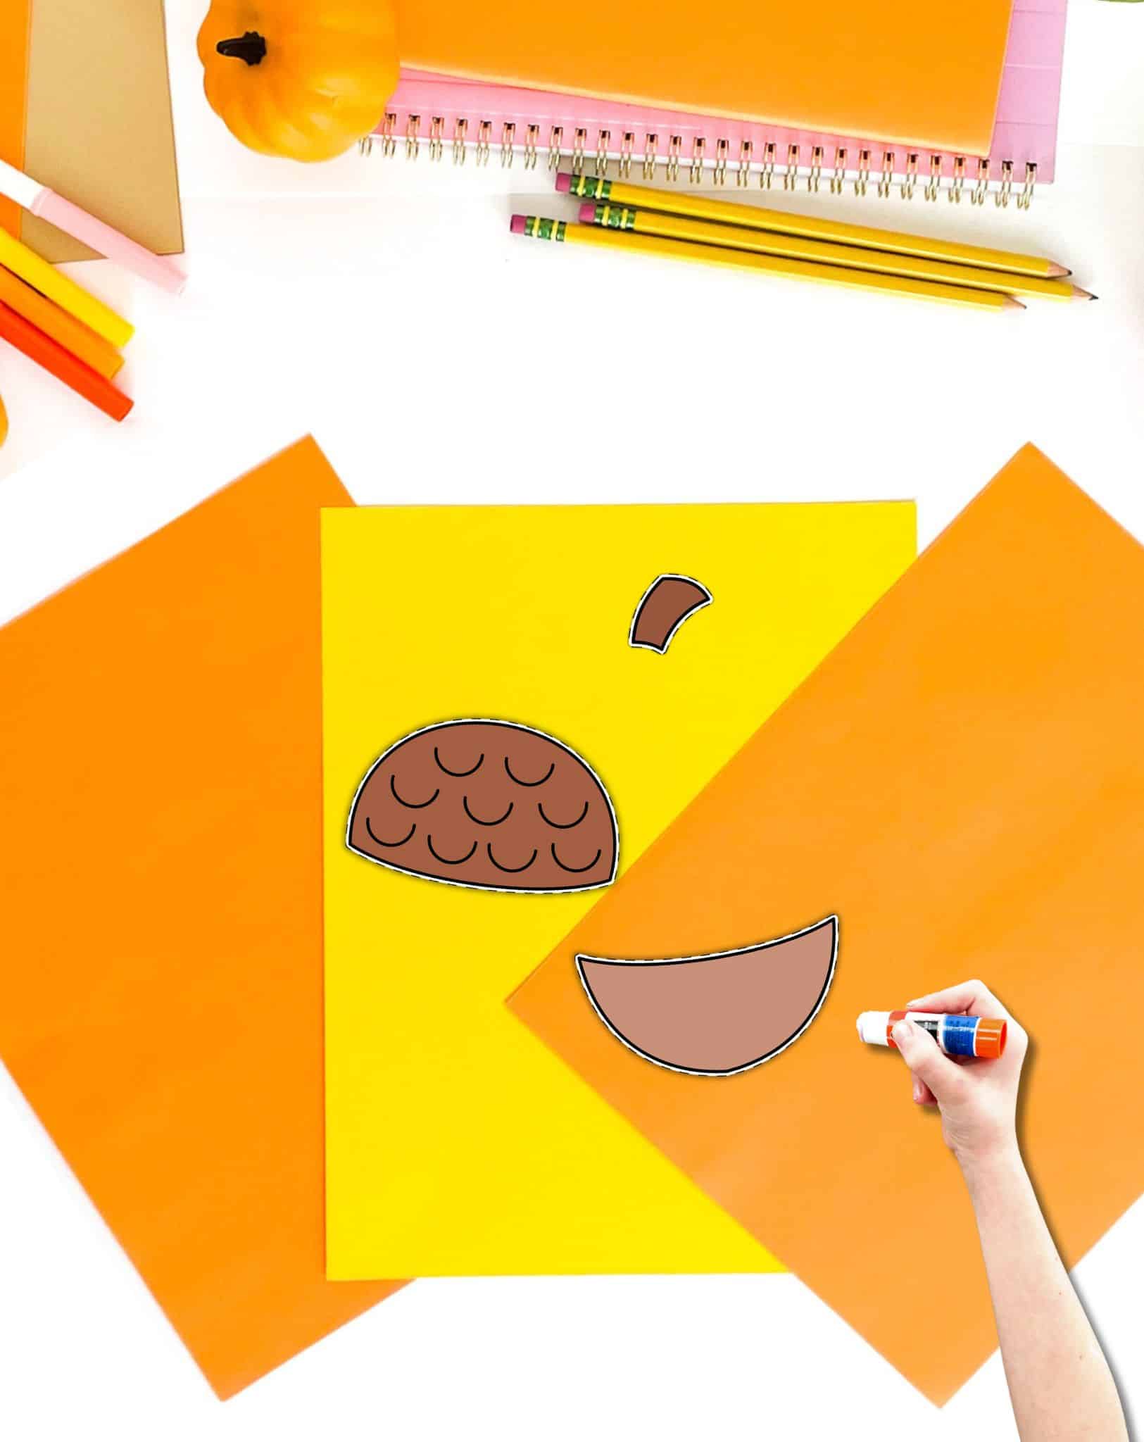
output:
[[[1016,0],[988,157],[994,186],[1001,180],[1003,162],[1013,163],[1016,186],[1024,183],[1027,164],[1036,164],[1039,185],[1053,179],[1066,3],[1068,0]],[[483,143],[496,150],[527,147],[532,127],[532,144],[545,154],[551,133],[558,127],[558,149],[563,156],[574,159],[578,159],[577,131],[581,131],[578,149],[586,160],[594,162],[599,154],[615,160],[626,149],[636,172],[649,137],[654,137],[654,153],[659,164],[677,162],[687,169],[697,156],[705,164],[724,162],[727,166],[737,166],[746,141],[750,144],[753,167],[759,169],[765,160],[773,159],[776,177],[783,176],[792,162],[793,146],[798,147],[795,169],[804,177],[809,173],[815,147],[822,150],[824,179],[832,174],[838,150],[845,151],[848,173],[857,172],[860,153],[868,151],[873,186],[881,177],[887,156],[893,157],[890,173],[900,177],[906,170],[907,156],[916,154],[919,187],[929,177],[932,163],[932,153],[928,150],[890,149],[883,141],[854,136],[649,110],[587,95],[485,85],[408,69],[402,71],[377,134],[385,141],[407,144],[410,150],[426,143],[430,153],[440,154],[444,146],[453,144],[459,121],[465,123],[465,140],[469,144]],[[770,157],[766,154],[767,144],[775,147]],[[952,154],[939,159],[941,174],[946,180],[954,177],[956,159]],[[978,159],[964,157],[967,187],[977,183]]]

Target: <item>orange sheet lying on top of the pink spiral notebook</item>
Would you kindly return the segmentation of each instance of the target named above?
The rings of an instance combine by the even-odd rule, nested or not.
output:
[[[988,154],[1011,0],[398,0],[404,65]]]

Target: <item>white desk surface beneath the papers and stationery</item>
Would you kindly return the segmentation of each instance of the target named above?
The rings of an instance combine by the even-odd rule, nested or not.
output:
[[[1101,297],[1000,317],[522,241],[512,211],[573,209],[519,160],[248,154],[202,99],[203,10],[167,4],[192,286],[81,268],[138,324],[134,415],[0,355],[0,622],[306,431],[362,503],[918,497],[922,544],[1034,440],[1144,538],[1144,6],[1072,0],[1027,216],[815,202],[1052,254]],[[997,1354],[938,1410],[792,1276],[418,1282],[222,1406],[3,1071],[0,1158],[13,1442],[1016,1438]],[[887,1270],[925,1293],[942,1256]],[[1144,1426],[1141,1276],[1144,1203],[1076,1269]]]

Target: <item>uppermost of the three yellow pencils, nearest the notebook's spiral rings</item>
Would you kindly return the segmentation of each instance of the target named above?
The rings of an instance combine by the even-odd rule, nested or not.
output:
[[[837,245],[866,245],[871,251],[893,251],[894,255],[919,255],[932,261],[954,261],[956,265],[980,265],[982,270],[1010,271],[1016,275],[1040,275],[1044,280],[1070,275],[1072,271],[1040,255],[1018,255],[1016,251],[994,251],[982,245],[962,245],[959,241],[933,241],[926,235],[906,235],[902,231],[879,231],[868,225],[847,225],[817,215],[789,215],[786,211],[766,211],[733,200],[713,200],[703,195],[654,190],[649,186],[602,180],[599,176],[558,174],[557,190],[583,200],[610,200],[613,205],[635,205],[668,215],[690,215],[697,221],[717,221],[721,225],[746,225],[754,231],[776,231],[780,235],[802,235],[812,241]]]

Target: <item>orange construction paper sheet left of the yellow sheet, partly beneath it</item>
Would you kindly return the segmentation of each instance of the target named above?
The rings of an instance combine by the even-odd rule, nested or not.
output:
[[[325,1279],[312,440],[0,630],[0,1057],[219,1396]]]

